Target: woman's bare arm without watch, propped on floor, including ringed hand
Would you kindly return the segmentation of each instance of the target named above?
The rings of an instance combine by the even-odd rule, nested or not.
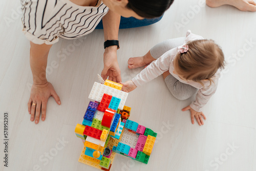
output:
[[[46,118],[46,105],[48,98],[53,96],[60,104],[59,96],[55,92],[52,84],[46,79],[47,58],[52,45],[37,45],[30,42],[30,68],[33,75],[33,85],[28,102],[30,120],[37,124],[39,122],[40,111],[42,111],[42,121]],[[33,105],[35,103],[36,105]]]

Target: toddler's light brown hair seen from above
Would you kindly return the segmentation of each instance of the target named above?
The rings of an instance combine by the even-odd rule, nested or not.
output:
[[[188,51],[178,53],[174,59],[176,72],[186,80],[193,80],[203,85],[202,80],[212,77],[218,69],[224,69],[225,60],[221,48],[214,40],[194,40],[187,42]]]

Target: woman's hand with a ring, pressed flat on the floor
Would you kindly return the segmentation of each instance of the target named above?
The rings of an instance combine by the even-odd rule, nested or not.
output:
[[[40,111],[42,111],[41,120],[44,121],[46,119],[46,105],[50,96],[60,104],[59,96],[50,82],[46,82],[44,84],[33,83],[28,102],[28,110],[29,114],[31,114],[30,120],[34,121],[35,119],[35,124],[39,122]]]

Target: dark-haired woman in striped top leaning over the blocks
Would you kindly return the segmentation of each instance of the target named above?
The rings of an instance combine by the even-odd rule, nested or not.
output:
[[[21,0],[22,1],[22,0]],[[60,104],[52,84],[46,79],[47,58],[50,48],[59,37],[74,39],[92,32],[102,18],[104,28],[104,68],[101,76],[121,81],[117,62],[118,28],[120,16],[137,19],[163,15],[174,0],[24,0],[23,32],[30,40],[30,67],[33,74],[28,111],[31,121],[46,118],[50,96]],[[145,24],[148,25],[148,24]]]

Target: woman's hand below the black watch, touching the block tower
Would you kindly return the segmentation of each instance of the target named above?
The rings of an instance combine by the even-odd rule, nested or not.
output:
[[[101,77],[106,80],[109,77],[109,80],[114,82],[121,82],[121,71],[117,61],[117,46],[110,46],[105,49],[104,52],[104,68],[101,72]]]

